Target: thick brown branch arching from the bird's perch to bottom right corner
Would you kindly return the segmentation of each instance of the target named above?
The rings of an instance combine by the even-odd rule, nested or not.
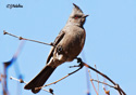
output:
[[[107,77],[106,74],[103,74],[103,73],[100,72],[99,70],[97,70],[97,69],[95,69],[95,68],[92,68],[92,67],[90,67],[89,65],[85,64],[84,62],[83,62],[83,64],[84,64],[84,66],[90,68],[91,70],[96,71],[97,73],[101,74],[101,76],[104,77],[107,80],[109,80],[111,83],[113,83],[113,84],[114,84],[114,89],[119,91],[120,95],[122,95],[122,94],[123,94],[123,95],[126,95],[125,92],[120,87],[120,85],[116,84],[116,83],[115,83],[113,80],[111,80],[109,77]]]

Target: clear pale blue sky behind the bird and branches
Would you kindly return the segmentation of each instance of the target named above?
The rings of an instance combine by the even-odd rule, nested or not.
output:
[[[23,8],[7,8],[8,4],[21,4]],[[10,36],[3,36],[3,30],[36,39],[44,42],[52,42],[64,27],[73,4],[77,4],[87,17],[86,43],[82,54],[83,60],[97,68],[113,79],[126,92],[135,94],[136,85],[136,0],[0,0],[0,72],[3,72],[3,62],[12,58],[20,44],[20,40]],[[50,46],[25,42],[16,63],[25,81],[30,81],[46,65]],[[84,56],[83,56],[84,55]],[[53,82],[76,68],[76,60],[61,65],[47,83]],[[15,74],[16,65],[12,65],[8,71],[8,89],[10,95],[34,95],[30,91],[17,87],[17,82],[9,78]],[[96,72],[91,71],[91,78]],[[103,81],[103,78],[99,76]],[[108,82],[108,81],[107,81]],[[108,82],[109,83],[109,82]],[[55,95],[86,95],[86,69],[67,79],[50,85]],[[96,85],[97,87],[97,85]],[[111,95],[118,92],[107,86]],[[91,83],[90,93],[96,95]],[[102,85],[99,86],[100,95],[103,94]],[[37,95],[50,95],[41,91]],[[0,95],[2,86],[0,84]]]

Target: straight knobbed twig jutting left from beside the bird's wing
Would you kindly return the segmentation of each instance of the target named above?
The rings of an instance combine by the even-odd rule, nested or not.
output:
[[[14,37],[14,38],[18,38],[18,40],[27,40],[27,41],[33,41],[33,42],[37,42],[37,43],[41,43],[41,44],[54,46],[53,43],[46,43],[46,42],[41,42],[41,41],[36,41],[36,40],[32,40],[32,39],[26,39],[26,38],[23,38],[23,37],[18,37],[18,36],[9,33],[9,32],[7,32],[5,30],[3,30],[3,35],[9,35],[9,36],[12,36],[12,37]]]

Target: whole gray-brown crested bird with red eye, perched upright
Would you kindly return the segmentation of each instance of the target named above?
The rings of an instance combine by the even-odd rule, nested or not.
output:
[[[37,90],[36,87],[42,86],[59,65],[72,62],[82,52],[86,39],[83,25],[88,15],[85,15],[76,4],[73,3],[73,12],[66,25],[53,42],[54,46],[50,50],[47,65],[24,89],[38,93],[40,89]]]

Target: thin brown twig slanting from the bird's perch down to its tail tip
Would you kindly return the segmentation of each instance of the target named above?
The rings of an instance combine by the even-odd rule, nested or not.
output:
[[[79,64],[79,66],[81,66],[81,64]],[[74,66],[74,67],[76,67],[76,66]],[[65,77],[63,77],[63,78],[61,78],[61,79],[59,79],[59,80],[57,80],[57,81],[54,81],[54,82],[52,82],[52,83],[46,84],[46,85],[40,86],[40,87],[36,87],[36,90],[37,90],[37,89],[42,89],[42,87],[45,87],[45,86],[49,86],[49,85],[51,85],[51,84],[55,84],[55,83],[60,82],[61,80],[63,80],[63,79],[70,77],[71,74],[77,72],[77,71],[78,71],[79,69],[82,69],[82,68],[83,68],[83,66],[81,66],[81,67],[79,67],[78,69],[76,69],[75,71],[69,73],[67,76],[65,76]]]

